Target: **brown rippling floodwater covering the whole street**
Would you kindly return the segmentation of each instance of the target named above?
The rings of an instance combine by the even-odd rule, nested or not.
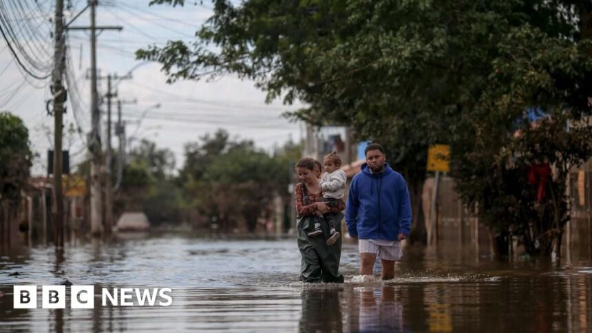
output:
[[[0,254],[0,331],[585,332],[592,330],[590,258],[512,262],[471,246],[409,246],[392,281],[298,282],[295,239],[151,235]],[[377,266],[376,272],[379,272]],[[18,272],[19,275],[14,275]],[[12,274],[12,275],[11,275]],[[95,286],[94,309],[13,309],[12,286]],[[172,305],[101,304],[101,288],[171,288]],[[134,302],[137,303],[137,300]]]

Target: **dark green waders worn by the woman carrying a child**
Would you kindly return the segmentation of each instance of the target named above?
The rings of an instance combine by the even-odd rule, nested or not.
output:
[[[308,203],[306,185],[302,184],[304,191],[304,204]],[[300,265],[300,281],[304,282],[343,282],[343,275],[339,273],[339,259],[341,259],[341,238],[335,244],[327,246],[329,238],[329,226],[321,221],[323,235],[308,237],[308,233],[314,229],[315,219],[322,219],[315,215],[302,216],[297,219],[298,248],[302,255]],[[341,222],[342,213],[335,214],[335,221]]]

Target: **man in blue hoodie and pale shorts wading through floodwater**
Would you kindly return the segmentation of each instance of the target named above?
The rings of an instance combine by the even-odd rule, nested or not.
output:
[[[411,200],[407,184],[385,162],[380,144],[368,144],[366,163],[350,184],[346,204],[346,224],[351,237],[358,239],[360,274],[372,275],[377,256],[381,278],[394,278],[394,262],[401,259],[401,240],[411,228]]]

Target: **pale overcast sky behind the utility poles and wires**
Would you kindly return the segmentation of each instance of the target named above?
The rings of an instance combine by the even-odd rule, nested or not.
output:
[[[66,0],[66,2],[68,2]],[[83,10],[86,0],[72,0],[72,11],[67,21]],[[148,6],[149,0],[104,0],[97,8],[97,25],[121,25],[122,32],[105,31],[98,36],[97,67],[100,74],[123,75],[138,65],[134,52],[150,44],[163,45],[166,41],[193,40],[193,34],[210,17],[210,1],[187,1],[184,7]],[[237,1],[238,2],[238,1]],[[20,3],[17,5],[17,3]],[[0,2],[0,11],[10,20],[14,34],[25,52],[39,63],[52,63],[53,0]],[[5,23],[6,24],[6,23]],[[89,15],[82,14],[72,26],[89,25]],[[10,37],[9,37],[10,38]],[[65,149],[70,148],[73,164],[85,158],[85,136],[90,129],[89,86],[86,73],[90,64],[89,34],[83,31],[69,32],[70,80],[76,82],[77,91],[70,89],[65,125],[80,127],[82,135],[65,136]],[[25,64],[26,65],[26,64]],[[26,77],[14,61],[6,41],[0,36],[0,110],[20,116],[30,131],[30,141],[39,158],[34,164],[34,174],[45,173],[46,151],[52,147],[53,119],[45,111],[45,100],[50,96],[50,80]],[[302,105],[284,106],[280,100],[270,105],[264,103],[265,94],[253,86],[253,82],[225,76],[215,82],[182,81],[167,85],[158,63],[140,65],[131,80],[118,85],[119,98],[138,101],[124,105],[127,134],[157,142],[159,147],[171,149],[182,163],[184,144],[197,141],[205,133],[224,128],[232,136],[252,139],[257,147],[272,149],[288,138],[299,140],[302,125],[290,123],[280,115],[288,109]],[[105,94],[107,82],[98,83],[100,94]],[[159,108],[154,107],[160,104]],[[106,105],[101,106],[106,111]],[[116,119],[116,106],[113,107]],[[145,114],[138,126],[138,119]],[[106,116],[103,115],[106,119]],[[132,141],[132,144],[134,142]],[[118,144],[114,138],[113,147]]]

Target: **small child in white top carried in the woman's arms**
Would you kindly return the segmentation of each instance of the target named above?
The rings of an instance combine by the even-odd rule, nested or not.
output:
[[[323,201],[329,206],[339,207],[342,204],[343,193],[346,191],[346,173],[341,170],[341,158],[337,155],[337,152],[333,151],[324,158],[325,173],[319,182],[319,187],[323,190]],[[339,232],[336,230],[335,221],[336,213],[326,213],[323,215],[324,219],[329,225],[330,236],[327,239],[327,245],[335,244],[335,241],[341,237]],[[315,224],[315,230],[308,233],[308,236],[314,237],[321,235],[320,224]]]

